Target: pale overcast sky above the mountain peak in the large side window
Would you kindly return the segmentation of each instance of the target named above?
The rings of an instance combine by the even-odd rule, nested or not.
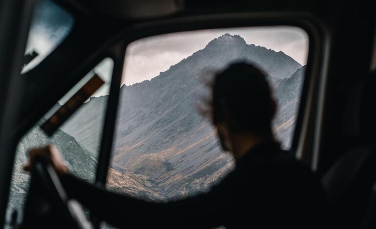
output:
[[[181,32],[143,38],[126,50],[123,83],[131,85],[158,76],[171,65],[205,48],[225,33],[240,35],[247,44],[282,51],[301,65],[307,62],[309,39],[304,30],[291,26],[247,27]]]

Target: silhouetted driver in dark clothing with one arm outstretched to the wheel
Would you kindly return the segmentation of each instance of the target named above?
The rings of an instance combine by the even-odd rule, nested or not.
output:
[[[31,150],[31,162],[38,154],[50,157],[68,195],[117,227],[323,228],[318,181],[273,137],[276,103],[266,76],[234,63],[215,75],[211,89],[207,114],[236,166],[207,193],[154,203],[106,191],[70,175],[52,146]]]

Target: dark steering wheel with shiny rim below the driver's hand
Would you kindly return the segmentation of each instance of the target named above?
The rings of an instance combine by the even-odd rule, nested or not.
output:
[[[62,220],[63,219],[63,220]],[[80,203],[69,199],[58,174],[44,157],[35,158],[21,228],[92,229]]]

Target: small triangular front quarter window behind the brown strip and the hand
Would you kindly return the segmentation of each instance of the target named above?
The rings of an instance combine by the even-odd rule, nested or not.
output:
[[[106,95],[109,93],[112,69],[111,58],[102,60],[21,138],[12,173],[8,214],[14,210],[19,213],[22,211],[30,182],[30,175],[23,171],[22,166],[28,161],[28,150],[31,148],[42,147],[46,144],[56,145],[71,173],[88,182],[94,182],[108,98]],[[51,137],[45,134],[40,128],[42,123],[95,74],[102,78],[104,85],[85,101]],[[91,106],[87,106],[89,103]]]

